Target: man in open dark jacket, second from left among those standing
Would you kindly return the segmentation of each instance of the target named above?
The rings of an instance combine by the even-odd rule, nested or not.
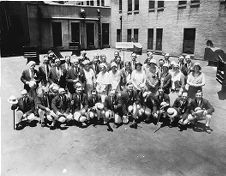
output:
[[[51,69],[51,66],[49,65],[48,56],[44,56],[43,64],[39,67],[39,73],[41,77],[41,84],[43,86],[47,86],[47,83],[49,82],[49,71]]]

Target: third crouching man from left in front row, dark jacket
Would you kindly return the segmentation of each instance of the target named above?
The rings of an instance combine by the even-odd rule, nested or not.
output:
[[[63,88],[59,89],[59,94],[53,98],[51,107],[56,114],[56,119],[53,118],[51,128],[56,127],[56,122],[65,123],[73,120],[70,114],[70,99],[66,96],[66,91]]]

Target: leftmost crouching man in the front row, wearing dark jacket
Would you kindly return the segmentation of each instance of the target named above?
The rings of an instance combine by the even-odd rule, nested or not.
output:
[[[34,99],[28,95],[27,90],[21,91],[22,97],[18,99],[17,104],[13,104],[11,109],[16,110],[16,129],[22,129],[22,121],[31,123],[38,120],[34,115],[35,103]]]

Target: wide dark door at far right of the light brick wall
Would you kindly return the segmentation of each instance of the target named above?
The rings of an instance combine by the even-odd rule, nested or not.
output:
[[[184,29],[183,53],[194,54],[195,28]]]

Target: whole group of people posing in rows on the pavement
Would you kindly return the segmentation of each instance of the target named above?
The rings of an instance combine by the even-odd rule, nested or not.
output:
[[[16,128],[39,121],[50,129],[105,124],[113,131],[111,124],[137,128],[144,121],[184,129],[206,120],[210,130],[214,108],[203,98],[205,75],[198,62],[189,55],[171,61],[168,53],[157,62],[152,52],[144,64],[135,53],[127,60],[118,51],[110,62],[98,54],[90,60],[83,51],[66,56],[65,63],[50,52],[38,69],[30,61],[21,75],[22,96],[9,100],[16,110]],[[172,104],[169,94],[178,96]]]

